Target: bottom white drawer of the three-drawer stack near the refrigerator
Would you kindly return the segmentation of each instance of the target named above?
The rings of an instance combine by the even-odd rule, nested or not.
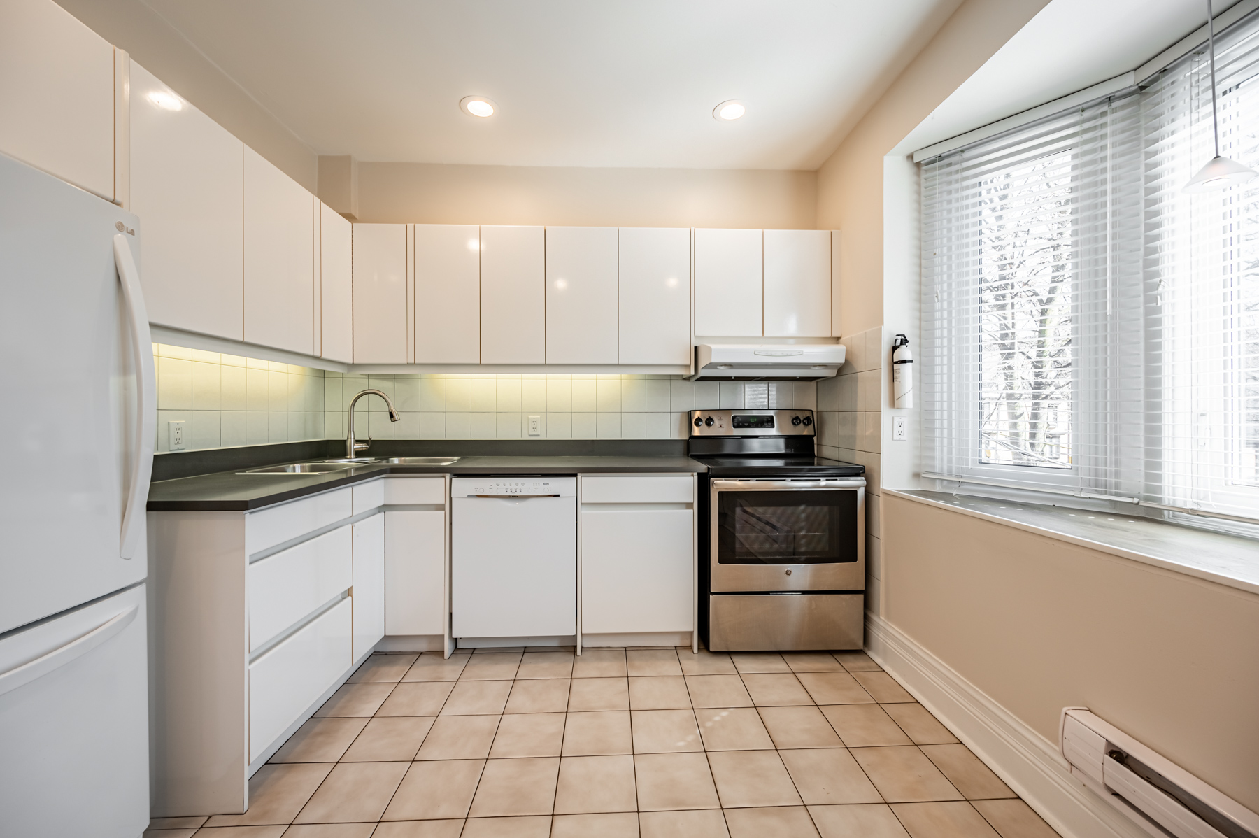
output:
[[[249,664],[249,761],[350,668],[350,599]]]

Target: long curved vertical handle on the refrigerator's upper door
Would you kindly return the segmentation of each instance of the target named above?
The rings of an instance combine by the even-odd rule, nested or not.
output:
[[[132,440],[131,487],[122,512],[122,535],[118,555],[131,559],[136,555],[140,535],[144,532],[149,505],[149,478],[154,471],[154,433],[157,428],[157,381],[154,374],[152,336],[149,332],[149,312],[145,294],[140,288],[140,272],[131,255],[127,237],[113,237],[113,264],[118,269],[122,298],[126,302],[131,325],[132,360],[136,366],[136,437]]]

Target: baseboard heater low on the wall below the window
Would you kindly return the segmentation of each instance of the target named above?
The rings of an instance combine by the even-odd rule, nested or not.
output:
[[[1071,774],[1155,838],[1259,838],[1259,815],[1085,707],[1064,707]]]

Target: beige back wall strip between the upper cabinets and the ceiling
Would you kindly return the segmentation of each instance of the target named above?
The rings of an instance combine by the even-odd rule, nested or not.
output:
[[[811,171],[359,162],[359,220],[813,229]]]

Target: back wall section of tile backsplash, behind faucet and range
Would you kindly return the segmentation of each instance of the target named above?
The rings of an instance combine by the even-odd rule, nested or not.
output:
[[[364,396],[355,435],[378,439],[528,439],[539,416],[549,439],[684,439],[686,411],[704,408],[811,408],[812,383],[684,381],[671,375],[395,375],[327,372],[324,432],[344,437],[345,409],[365,388],[389,393],[402,420],[388,422],[383,403]]]

